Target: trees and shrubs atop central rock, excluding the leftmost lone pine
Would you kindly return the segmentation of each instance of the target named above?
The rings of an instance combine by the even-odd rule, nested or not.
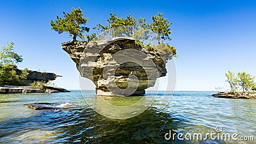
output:
[[[149,51],[159,52],[164,59],[170,60],[173,57],[177,57],[176,49],[168,44],[163,44],[163,41],[166,39],[172,40],[170,38],[171,31],[169,28],[172,23],[168,22],[168,19],[164,19],[162,16],[163,13],[153,15],[152,24],[147,24],[145,18],[140,17],[135,19],[129,14],[124,19],[123,17],[117,17],[115,13],[110,13],[110,17],[107,19],[109,26],[97,24],[93,29],[97,29],[99,34],[102,32],[108,33],[109,38],[116,36],[132,36],[136,38],[136,45],[145,47]],[[152,40],[158,40],[159,44],[156,46],[152,44],[143,44],[143,42],[148,40],[150,36],[150,29],[152,32],[157,33],[157,36],[152,38]],[[92,40],[91,37],[88,37],[87,39]]]

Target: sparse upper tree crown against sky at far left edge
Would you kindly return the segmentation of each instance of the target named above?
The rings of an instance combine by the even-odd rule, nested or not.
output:
[[[0,65],[16,65],[23,61],[22,56],[14,52],[14,43],[8,44],[7,47],[2,46],[0,51]]]

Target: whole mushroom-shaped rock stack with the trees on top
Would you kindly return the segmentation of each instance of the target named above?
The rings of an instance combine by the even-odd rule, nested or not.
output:
[[[90,28],[85,24],[80,8],[72,8],[64,18],[51,20],[58,33],[72,36],[61,44],[70,54],[82,77],[95,84],[96,95],[130,96],[145,95],[145,89],[154,86],[156,79],[166,76],[166,63],[176,57],[175,47],[165,43],[170,38],[170,25],[163,13],[152,15],[152,23],[145,18],[126,18],[110,13],[109,25],[97,24],[97,33],[83,35]],[[81,40],[77,40],[77,36]]]

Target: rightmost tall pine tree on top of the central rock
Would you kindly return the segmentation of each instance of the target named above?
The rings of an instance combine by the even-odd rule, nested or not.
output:
[[[157,33],[157,41],[158,44],[163,42],[164,40],[172,40],[170,37],[171,29],[169,28],[172,23],[168,21],[168,19],[164,19],[163,13],[159,12],[157,15],[152,16],[152,24],[149,25],[149,28],[154,32]]]

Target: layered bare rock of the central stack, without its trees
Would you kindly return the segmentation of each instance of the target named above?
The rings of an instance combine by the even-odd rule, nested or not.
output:
[[[161,56],[137,45],[134,38],[65,42],[82,77],[93,81],[97,95],[144,95],[158,77],[166,76]]]

